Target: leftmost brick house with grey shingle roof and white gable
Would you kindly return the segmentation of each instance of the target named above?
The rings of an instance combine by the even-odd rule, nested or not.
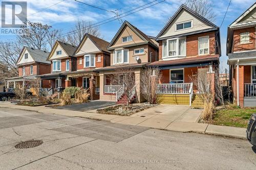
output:
[[[39,75],[48,74],[51,72],[50,64],[47,61],[49,52],[38,50],[32,47],[24,46],[20,53],[16,65],[18,66],[18,77],[8,78],[7,88],[15,88],[17,83],[29,85],[29,81],[36,79]],[[50,87],[49,81],[42,80],[42,87]]]

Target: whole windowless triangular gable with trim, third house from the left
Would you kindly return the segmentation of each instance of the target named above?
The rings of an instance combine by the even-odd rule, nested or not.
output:
[[[92,54],[98,53],[101,49],[97,46],[97,44],[90,38],[90,35],[85,34],[77,46],[74,56],[80,56],[84,54]]]

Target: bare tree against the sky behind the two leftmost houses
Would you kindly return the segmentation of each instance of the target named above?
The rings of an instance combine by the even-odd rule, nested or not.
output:
[[[40,22],[27,21],[27,26],[21,27],[23,34],[17,34],[19,45],[33,47],[39,50],[47,50],[52,47],[56,39],[60,37],[60,30],[52,29],[52,26],[43,25]]]

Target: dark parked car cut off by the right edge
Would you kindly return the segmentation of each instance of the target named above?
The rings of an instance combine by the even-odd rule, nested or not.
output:
[[[249,142],[256,147],[256,114],[252,114],[248,122],[247,130],[247,139]]]

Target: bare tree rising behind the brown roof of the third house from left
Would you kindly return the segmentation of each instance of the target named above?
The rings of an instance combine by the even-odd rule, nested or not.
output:
[[[77,20],[73,29],[71,29],[71,34],[68,34],[67,41],[77,46],[84,34],[89,33],[96,37],[101,36],[99,27],[92,26],[93,22],[91,21],[84,21],[84,20]]]

